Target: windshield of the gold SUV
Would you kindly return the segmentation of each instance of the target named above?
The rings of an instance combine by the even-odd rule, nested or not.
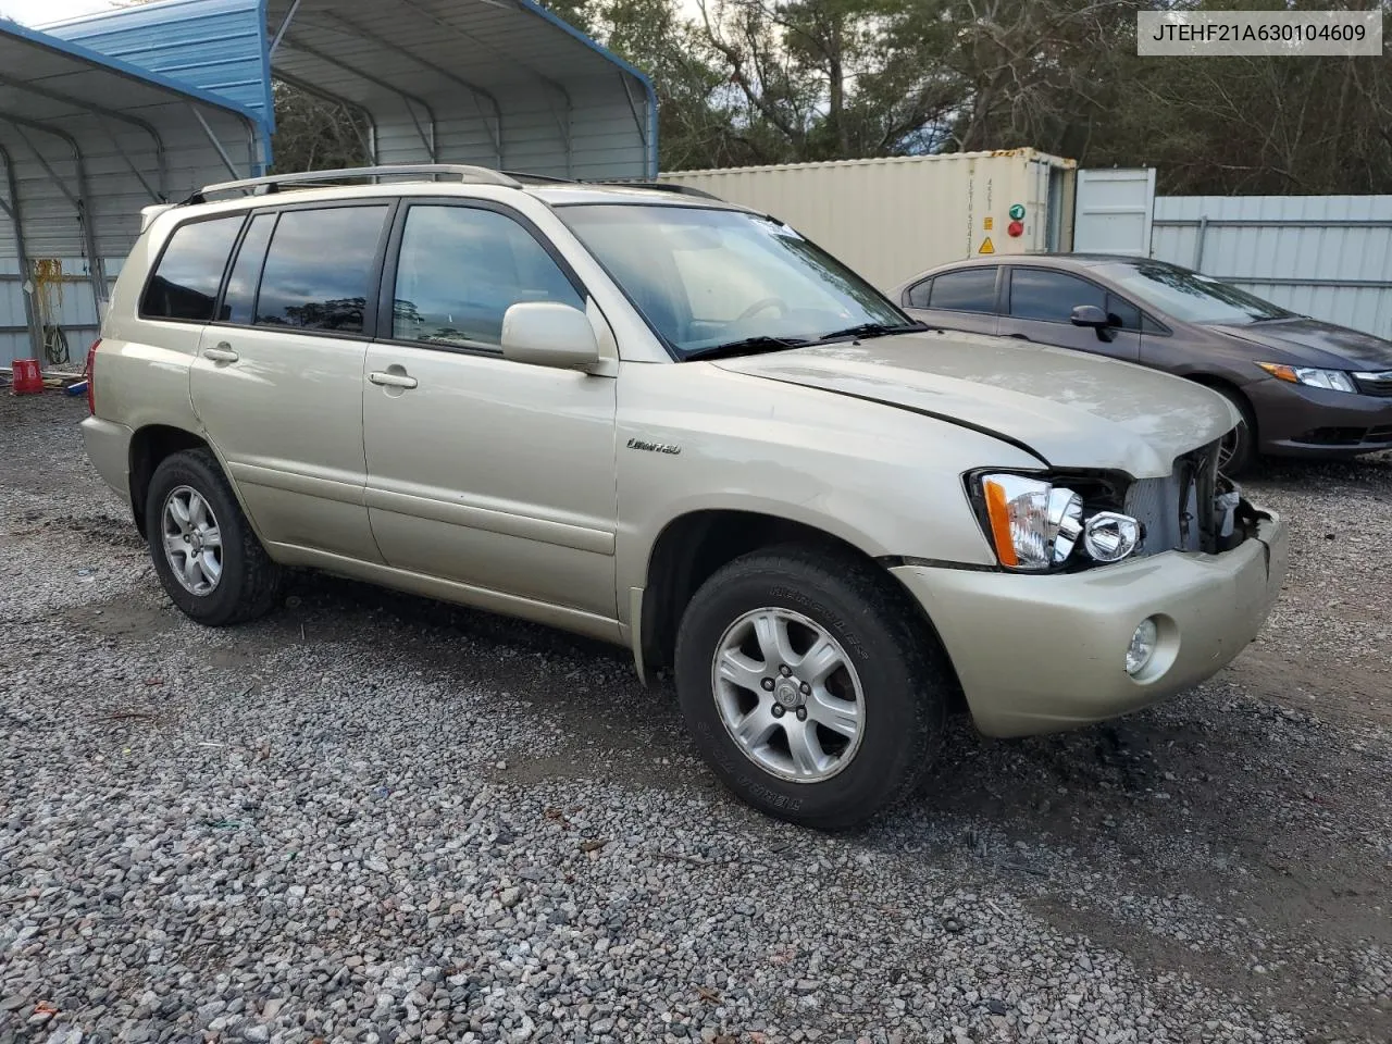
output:
[[[917,329],[869,283],[766,217],[633,203],[557,210],[682,358],[795,347],[859,327]]]

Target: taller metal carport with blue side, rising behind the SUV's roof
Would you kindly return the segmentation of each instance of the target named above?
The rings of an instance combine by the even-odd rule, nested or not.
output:
[[[269,109],[264,61],[362,111],[381,164],[657,174],[647,78],[533,0],[166,0],[45,31]]]

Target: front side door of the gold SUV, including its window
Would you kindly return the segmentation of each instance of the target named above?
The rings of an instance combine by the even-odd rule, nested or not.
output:
[[[394,239],[390,329],[362,384],[383,557],[614,619],[617,381],[501,351],[511,305],[585,308],[578,280],[522,219],[487,205],[413,203]]]

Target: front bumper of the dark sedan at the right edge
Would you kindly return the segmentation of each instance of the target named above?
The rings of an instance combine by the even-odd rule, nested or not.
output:
[[[1243,388],[1258,450],[1279,457],[1353,457],[1392,450],[1392,398],[1258,380]]]

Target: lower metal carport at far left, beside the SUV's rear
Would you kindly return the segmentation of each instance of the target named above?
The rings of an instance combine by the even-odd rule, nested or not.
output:
[[[141,209],[260,173],[264,141],[223,97],[0,21],[0,365],[95,333]]]

